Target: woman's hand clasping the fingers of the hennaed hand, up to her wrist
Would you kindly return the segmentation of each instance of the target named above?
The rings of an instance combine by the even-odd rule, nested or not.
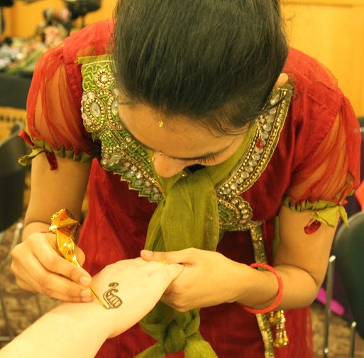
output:
[[[184,312],[238,299],[236,280],[248,266],[214,251],[184,249],[171,252],[141,251],[145,261],[180,263],[184,270],[162,295],[161,301]]]

